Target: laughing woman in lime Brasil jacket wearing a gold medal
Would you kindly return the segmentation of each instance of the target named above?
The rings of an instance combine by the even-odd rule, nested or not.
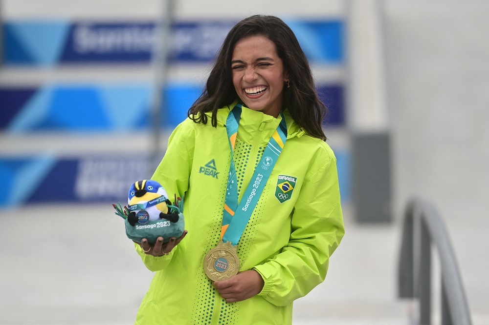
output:
[[[282,20],[231,29],[153,175],[185,196],[189,232],[135,245],[156,271],[136,324],[291,324],[344,234],[325,112]]]

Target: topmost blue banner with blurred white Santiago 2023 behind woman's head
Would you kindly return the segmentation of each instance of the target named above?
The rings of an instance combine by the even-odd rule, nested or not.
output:
[[[340,20],[286,20],[312,62],[343,61]],[[178,21],[171,27],[170,59],[209,62],[236,21]],[[4,64],[56,65],[148,62],[157,24],[145,22],[7,21],[2,25]]]

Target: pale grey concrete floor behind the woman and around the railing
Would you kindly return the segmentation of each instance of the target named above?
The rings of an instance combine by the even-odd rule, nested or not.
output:
[[[344,209],[344,240],[326,281],[294,304],[294,324],[414,324],[416,304],[396,298],[399,224],[360,226]],[[133,324],[152,273],[110,203],[27,206],[1,217],[0,324]],[[488,225],[448,224],[481,325],[489,324]]]

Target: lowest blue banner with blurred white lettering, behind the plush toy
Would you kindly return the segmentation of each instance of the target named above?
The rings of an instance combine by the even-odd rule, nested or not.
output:
[[[349,153],[335,150],[335,155],[341,199],[347,201],[350,199]],[[0,156],[0,207],[67,202],[124,205],[131,184],[151,177],[150,165],[149,156],[144,153],[70,158],[48,154]]]

